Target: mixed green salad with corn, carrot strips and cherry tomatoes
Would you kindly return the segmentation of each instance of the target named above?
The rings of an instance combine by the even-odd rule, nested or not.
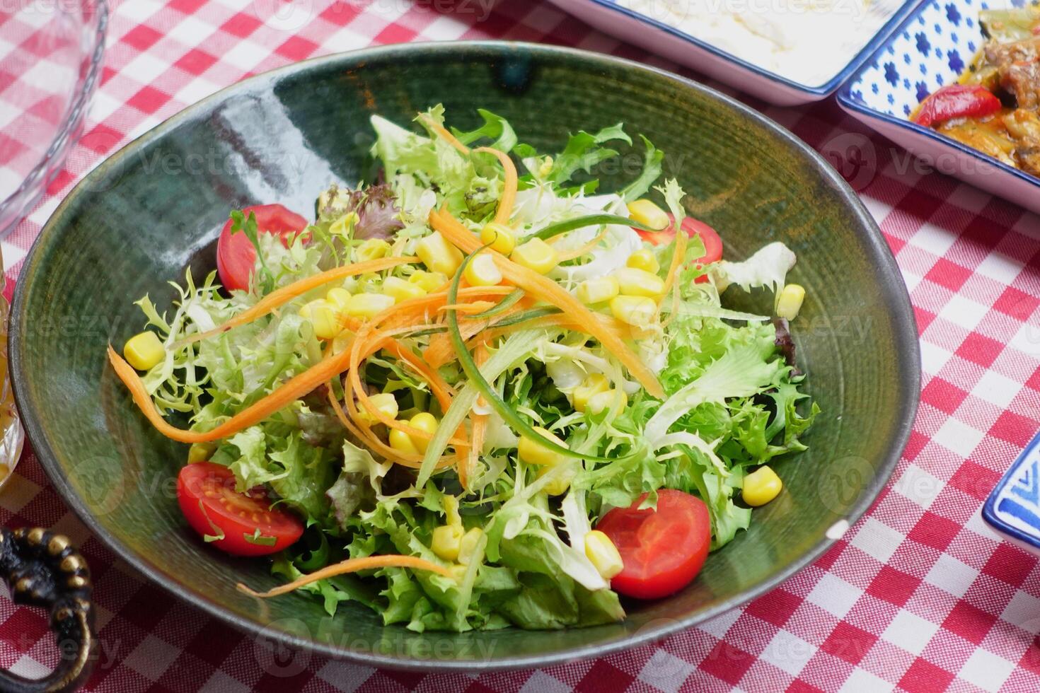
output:
[[[419,632],[621,620],[619,593],[688,584],[805,449],[794,254],[723,260],[646,138],[642,172],[600,190],[621,124],[546,155],[478,113],[373,116],[371,181],[321,192],[313,221],[232,212],[218,271],[167,312],[141,298],[147,329],[109,349],[190,444],[188,524],[271,560],[284,584],[252,594]],[[773,314],[725,308],[727,287]]]

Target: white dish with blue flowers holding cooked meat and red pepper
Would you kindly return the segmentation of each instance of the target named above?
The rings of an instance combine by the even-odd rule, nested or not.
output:
[[[956,82],[985,44],[979,11],[1022,0],[928,0],[838,91],[841,107],[924,161],[1040,212],[1040,179],[908,121],[929,94]]]

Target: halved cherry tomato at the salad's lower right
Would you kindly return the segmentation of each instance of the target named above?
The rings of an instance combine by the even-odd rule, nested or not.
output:
[[[607,511],[596,529],[610,537],[625,566],[610,587],[656,599],[682,589],[700,572],[711,544],[711,519],[703,501],[681,490],[662,488],[656,509],[639,510],[646,496]]]

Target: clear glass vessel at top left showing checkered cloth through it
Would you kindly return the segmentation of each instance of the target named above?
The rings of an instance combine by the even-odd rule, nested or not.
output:
[[[0,3],[0,237],[61,169],[101,77],[105,0]]]

